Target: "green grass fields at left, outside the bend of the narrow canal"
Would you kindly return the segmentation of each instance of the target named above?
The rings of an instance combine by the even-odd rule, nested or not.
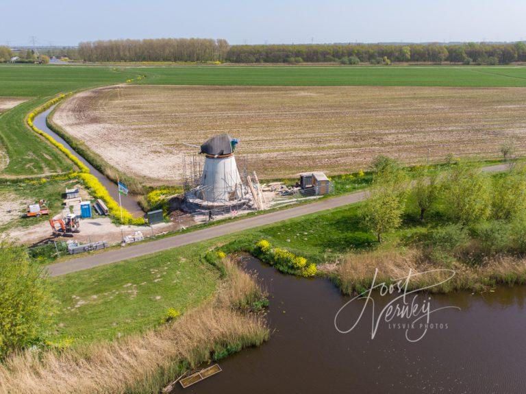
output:
[[[49,97],[61,92],[125,82],[132,71],[110,67],[0,66],[0,96],[34,97],[0,115],[0,149],[10,162],[0,177],[62,173],[73,164],[44,138],[24,124],[25,116]]]

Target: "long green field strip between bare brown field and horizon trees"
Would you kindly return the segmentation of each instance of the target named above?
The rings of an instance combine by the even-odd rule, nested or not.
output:
[[[140,84],[257,86],[526,86],[503,66],[175,66],[131,69]]]

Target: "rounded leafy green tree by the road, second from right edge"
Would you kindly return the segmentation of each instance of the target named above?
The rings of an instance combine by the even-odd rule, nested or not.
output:
[[[451,167],[442,184],[446,213],[466,225],[487,219],[491,208],[490,184],[480,169],[460,163]]]

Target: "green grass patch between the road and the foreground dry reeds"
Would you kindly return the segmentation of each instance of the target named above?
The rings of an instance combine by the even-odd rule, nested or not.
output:
[[[168,308],[183,313],[212,297],[219,271],[189,245],[53,278],[60,304],[53,339],[111,340],[162,323]]]

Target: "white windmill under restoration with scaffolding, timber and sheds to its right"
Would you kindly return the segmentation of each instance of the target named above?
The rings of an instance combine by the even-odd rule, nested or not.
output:
[[[249,171],[246,160],[236,162],[239,143],[237,138],[220,134],[206,140],[197,154],[184,156],[184,196],[179,208],[197,223],[295,204],[333,190],[321,172],[299,174],[295,186],[262,183],[255,170]]]

